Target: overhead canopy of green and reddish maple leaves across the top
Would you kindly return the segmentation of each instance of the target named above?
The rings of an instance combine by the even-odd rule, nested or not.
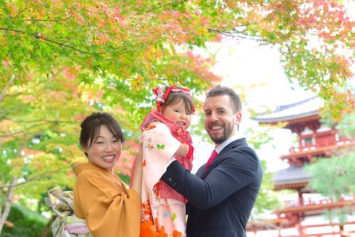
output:
[[[140,88],[161,77],[157,66],[173,62],[175,45],[204,46],[231,35],[279,48],[288,79],[320,94],[335,118],[353,103],[350,92],[334,89],[353,76],[354,21],[341,1],[1,0],[0,6],[3,85],[11,77],[26,83],[31,70],[70,67],[80,82],[114,75]]]

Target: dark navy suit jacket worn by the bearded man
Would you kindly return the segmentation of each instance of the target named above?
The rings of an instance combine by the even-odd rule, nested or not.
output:
[[[235,140],[192,175],[178,161],[163,175],[185,196],[188,237],[244,237],[246,223],[256,201],[263,171],[255,151],[245,138]]]

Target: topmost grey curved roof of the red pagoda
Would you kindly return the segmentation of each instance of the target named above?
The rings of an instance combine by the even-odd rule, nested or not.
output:
[[[297,118],[305,118],[319,114],[322,107],[322,99],[320,97],[311,97],[293,104],[277,106],[273,113],[261,114],[253,118],[259,123],[276,123],[290,121]]]

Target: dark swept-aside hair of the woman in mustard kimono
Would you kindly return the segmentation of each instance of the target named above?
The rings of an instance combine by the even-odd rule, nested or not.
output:
[[[79,138],[80,145],[86,147],[89,144],[90,147],[99,135],[102,125],[106,126],[115,138],[121,140],[121,143],[124,143],[124,133],[116,119],[111,114],[95,112],[87,116],[80,125],[82,128]],[[87,154],[85,153],[85,155]]]

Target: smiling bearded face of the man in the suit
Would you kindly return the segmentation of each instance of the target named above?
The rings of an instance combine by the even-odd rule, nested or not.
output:
[[[241,121],[241,112],[233,112],[228,95],[209,97],[204,102],[204,128],[218,146],[234,136]]]

